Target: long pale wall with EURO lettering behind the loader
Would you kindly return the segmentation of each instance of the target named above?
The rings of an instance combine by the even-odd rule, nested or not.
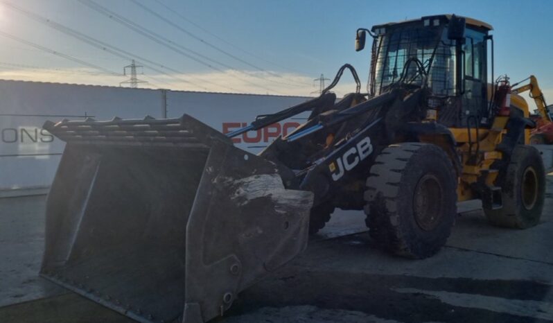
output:
[[[229,132],[253,121],[258,114],[277,112],[306,100],[0,80],[0,195],[50,186],[64,143],[42,130],[46,120],[109,120],[113,116],[141,119],[146,115],[176,118],[186,113]],[[258,152],[301,122],[301,118],[291,119],[244,134],[235,139],[236,145]]]

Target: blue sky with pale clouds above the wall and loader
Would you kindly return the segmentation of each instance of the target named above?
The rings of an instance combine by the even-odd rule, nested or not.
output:
[[[13,3],[107,44],[164,64],[174,70],[168,73],[190,82],[180,82],[144,68],[145,75],[141,78],[151,83],[145,86],[214,91],[230,91],[232,88],[249,93],[308,95],[316,90],[313,78],[321,73],[332,78],[345,62],[353,64],[362,81],[366,82],[370,53],[354,51],[356,28],[423,15],[455,13],[493,25],[496,75],[508,73],[513,80],[519,80],[534,73],[546,94],[553,89],[553,43],[550,41],[553,1],[134,0],[204,42],[170,26],[132,0],[93,1],[204,55],[211,59],[207,63],[216,69],[175,53],[77,0],[0,0],[0,30],[110,71],[121,73],[123,66],[130,63],[28,19],[6,6],[6,3]],[[205,42],[249,64],[231,58]],[[103,85],[119,85],[125,79],[105,75],[1,35],[0,46],[3,49],[0,52],[0,78]],[[205,58],[200,60],[205,61]],[[351,79],[345,81],[351,82]],[[349,89],[353,90],[351,84],[340,87],[340,91]]]

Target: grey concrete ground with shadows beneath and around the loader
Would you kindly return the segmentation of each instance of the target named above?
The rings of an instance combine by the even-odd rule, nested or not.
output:
[[[340,211],[304,254],[243,291],[216,322],[551,322],[553,173],[540,225],[500,229],[459,207],[446,247],[413,261],[378,250]],[[45,197],[0,199],[0,322],[132,322],[37,277]]]

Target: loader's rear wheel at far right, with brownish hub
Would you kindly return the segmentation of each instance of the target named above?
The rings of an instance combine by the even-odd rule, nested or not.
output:
[[[526,229],[540,222],[545,200],[545,168],[536,148],[516,146],[501,188],[503,207],[484,209],[492,225]]]

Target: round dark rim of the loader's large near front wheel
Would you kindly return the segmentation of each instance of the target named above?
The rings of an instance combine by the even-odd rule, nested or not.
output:
[[[413,211],[416,224],[425,231],[435,229],[441,220],[442,190],[438,178],[426,174],[416,184]]]

